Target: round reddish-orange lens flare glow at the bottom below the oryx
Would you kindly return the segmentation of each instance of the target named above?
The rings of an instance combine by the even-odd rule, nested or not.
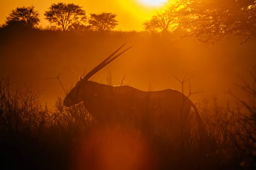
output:
[[[134,130],[94,130],[77,146],[74,170],[154,170],[156,158]]]

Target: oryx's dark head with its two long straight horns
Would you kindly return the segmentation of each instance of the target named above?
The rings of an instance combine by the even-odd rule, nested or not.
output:
[[[125,43],[126,44],[126,43]],[[80,81],[75,85],[75,87],[67,94],[67,96],[64,99],[64,106],[70,107],[72,105],[78,104],[79,102],[83,102],[82,94],[86,92],[86,87],[89,84],[89,78],[92,77],[95,73],[97,73],[100,69],[104,68],[106,65],[111,63],[113,60],[118,58],[122,53],[130,49],[131,47],[128,47],[127,49],[121,51],[117,55],[115,55],[125,44],[123,44],[121,47],[119,47],[116,51],[114,51],[111,55],[109,55],[105,60],[103,60],[98,66],[93,68],[90,72],[88,72],[84,77],[80,78]],[[115,56],[114,56],[115,55]],[[85,87],[85,85],[87,85]]]

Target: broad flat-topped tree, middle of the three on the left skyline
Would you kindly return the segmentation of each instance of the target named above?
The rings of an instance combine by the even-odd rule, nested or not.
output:
[[[55,23],[66,31],[73,24],[83,23],[86,19],[85,11],[81,6],[74,3],[53,3],[48,11],[44,13],[45,19]]]

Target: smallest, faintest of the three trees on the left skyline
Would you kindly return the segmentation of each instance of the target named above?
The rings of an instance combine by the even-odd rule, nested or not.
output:
[[[102,12],[100,14],[90,15],[89,24],[92,30],[110,31],[118,25],[118,21],[115,19],[117,17],[116,14]]]

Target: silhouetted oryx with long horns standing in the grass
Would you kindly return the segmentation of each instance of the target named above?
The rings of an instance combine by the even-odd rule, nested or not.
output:
[[[114,56],[124,45],[80,79],[65,97],[64,106],[70,107],[83,102],[87,111],[98,122],[128,118],[142,122],[147,119],[147,122],[170,127],[168,131],[173,133],[180,129],[180,125],[185,128],[191,107],[195,110],[196,118],[200,119],[195,104],[177,90],[141,91],[127,85],[111,86],[89,81],[96,72],[131,48]]]

